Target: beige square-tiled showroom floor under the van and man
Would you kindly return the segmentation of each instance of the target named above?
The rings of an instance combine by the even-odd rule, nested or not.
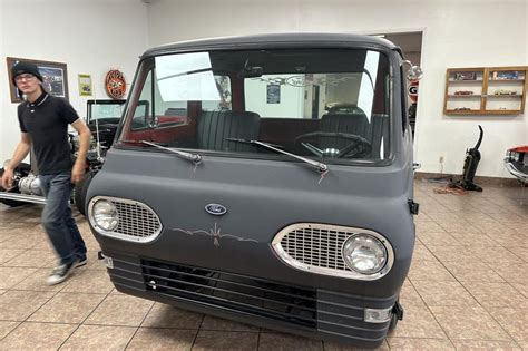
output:
[[[415,183],[421,213],[405,316],[380,350],[528,350],[528,188],[440,195],[438,186]],[[55,259],[40,211],[0,204],[1,350],[351,349],[120,294],[80,215],[89,264],[48,287]]]

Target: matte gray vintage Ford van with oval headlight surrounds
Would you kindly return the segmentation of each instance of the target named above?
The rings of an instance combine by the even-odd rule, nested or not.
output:
[[[116,289],[382,343],[403,315],[418,212],[405,64],[393,43],[354,35],[146,51],[87,194]]]

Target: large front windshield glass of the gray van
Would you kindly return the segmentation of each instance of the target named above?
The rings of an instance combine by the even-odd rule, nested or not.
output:
[[[325,163],[390,155],[390,69],[366,49],[231,50],[144,60],[119,145]],[[290,160],[291,158],[287,158]]]

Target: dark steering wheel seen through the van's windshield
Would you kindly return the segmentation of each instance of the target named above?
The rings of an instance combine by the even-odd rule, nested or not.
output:
[[[349,144],[339,149],[339,148],[324,148],[320,149],[313,146],[305,140],[314,138],[339,138],[348,140]],[[295,143],[301,144],[307,148],[312,154],[319,157],[333,157],[333,158],[353,158],[362,157],[369,154],[372,150],[372,145],[365,138],[350,133],[339,133],[339,131],[313,131],[306,133],[297,136]]]

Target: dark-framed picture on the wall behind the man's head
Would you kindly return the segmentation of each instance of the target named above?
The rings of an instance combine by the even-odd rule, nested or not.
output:
[[[12,82],[11,77],[11,67],[13,67],[18,61],[31,62],[37,65],[40,75],[42,76],[42,87],[49,94],[53,96],[63,97],[66,99],[68,96],[68,71],[66,64],[62,62],[52,62],[52,61],[42,61],[25,58],[8,57],[6,58],[8,64],[8,78],[9,78],[9,91],[11,95],[11,103],[21,103],[22,99],[19,96],[18,88]]]

